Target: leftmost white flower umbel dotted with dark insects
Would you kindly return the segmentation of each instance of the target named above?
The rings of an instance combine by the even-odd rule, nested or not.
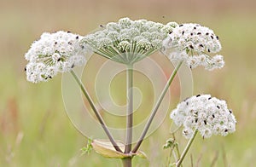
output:
[[[25,55],[29,61],[25,67],[27,80],[32,83],[48,81],[57,72],[68,72],[73,66],[83,65],[88,49],[80,45],[81,39],[70,32],[44,32]]]

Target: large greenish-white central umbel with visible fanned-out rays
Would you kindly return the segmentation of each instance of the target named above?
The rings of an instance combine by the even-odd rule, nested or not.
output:
[[[98,55],[132,64],[160,49],[163,39],[176,26],[175,22],[163,25],[148,20],[122,18],[101,26],[99,31],[84,37],[83,42]]]

